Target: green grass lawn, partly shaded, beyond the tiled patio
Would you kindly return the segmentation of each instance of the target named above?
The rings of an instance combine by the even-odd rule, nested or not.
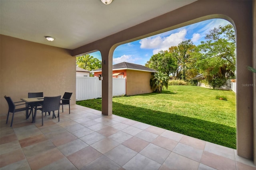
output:
[[[216,99],[225,96],[227,101]],[[101,110],[101,99],[76,104]],[[197,86],[169,86],[162,93],[113,98],[113,114],[236,148],[236,95]]]

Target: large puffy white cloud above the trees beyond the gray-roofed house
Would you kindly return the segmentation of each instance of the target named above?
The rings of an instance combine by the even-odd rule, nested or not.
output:
[[[186,29],[182,29],[177,33],[167,37],[154,36],[140,40],[140,48],[153,49],[153,54],[160,50],[168,50],[169,47],[176,46],[179,43],[186,41]]]

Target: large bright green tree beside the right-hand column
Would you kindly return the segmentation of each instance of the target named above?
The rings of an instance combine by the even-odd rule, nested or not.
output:
[[[206,34],[206,42],[197,46],[194,56],[196,67],[204,73],[213,88],[220,87],[227,79],[235,77],[236,44],[231,24],[219,26]]]

